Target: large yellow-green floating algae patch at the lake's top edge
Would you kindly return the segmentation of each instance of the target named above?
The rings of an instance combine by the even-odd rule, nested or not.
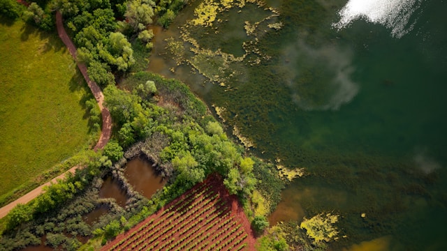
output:
[[[247,3],[252,5],[250,10],[245,10]],[[240,27],[245,27],[246,34],[240,36],[240,33],[237,33],[234,37],[240,43],[238,50],[242,49],[244,52],[241,56],[236,56],[235,51],[227,51],[224,46],[214,46],[208,43],[208,41],[216,43],[219,40],[233,39],[231,36],[227,38],[228,33],[224,30],[225,25],[228,24],[229,19],[235,18],[234,15],[239,16],[237,17],[239,19],[244,16],[245,11],[252,11],[253,5],[260,9],[259,14],[247,14],[247,17],[244,18],[249,20],[244,20],[240,24]],[[258,40],[268,30],[281,29],[282,24],[274,19],[279,16],[277,10],[263,8],[263,6],[264,3],[257,0],[203,1],[194,10],[195,18],[180,28],[184,45],[180,45],[179,41],[174,38],[169,38],[166,48],[175,55],[177,66],[182,63],[189,64],[211,82],[229,86],[235,82],[234,79],[240,79],[244,75],[242,69],[245,66],[255,66],[270,59],[270,56],[257,47]],[[233,11],[235,8],[238,9],[237,12]],[[231,46],[234,44],[232,43]],[[189,52],[182,52],[180,48],[189,48]]]

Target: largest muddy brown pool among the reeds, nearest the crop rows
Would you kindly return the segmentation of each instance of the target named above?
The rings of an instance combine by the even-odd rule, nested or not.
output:
[[[127,162],[124,176],[135,191],[148,199],[166,184],[165,179],[156,175],[152,163],[143,158],[135,158]]]

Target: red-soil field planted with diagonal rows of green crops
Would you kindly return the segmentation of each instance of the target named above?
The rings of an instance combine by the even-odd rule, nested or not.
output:
[[[237,197],[211,175],[101,250],[254,250],[254,243]]]

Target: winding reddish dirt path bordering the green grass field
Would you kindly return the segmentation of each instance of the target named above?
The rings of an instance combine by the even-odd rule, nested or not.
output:
[[[71,41],[71,39],[68,37],[65,29],[64,29],[64,22],[62,22],[62,15],[57,10],[56,12],[56,26],[57,26],[57,33],[59,34],[59,38],[61,38],[62,42],[66,45],[68,48],[68,52],[70,52],[71,56],[73,56],[73,59],[76,61],[76,47]],[[103,119],[103,128],[101,130],[101,136],[98,139],[98,142],[96,143],[96,146],[94,146],[94,151],[98,151],[98,149],[103,149],[105,144],[109,142],[110,135],[112,134],[112,117],[110,116],[109,110],[103,105],[104,102],[104,95],[101,91],[101,88],[99,88],[98,84],[96,82],[92,81],[89,78],[89,75],[87,74],[87,66],[83,63],[76,62],[78,64],[78,68],[80,72],[82,73],[82,76],[84,76],[85,81],[89,85],[89,88],[91,92],[93,93],[96,102],[98,102],[99,108],[101,109],[101,116]],[[38,195],[40,195],[43,192],[43,188],[47,185],[50,185],[51,183],[57,183],[57,180],[64,178],[66,174],[72,173],[74,174],[76,169],[80,168],[82,166],[76,165],[75,167],[71,167],[68,171],[64,172],[64,174],[61,174],[57,176],[56,178],[53,178],[51,181],[39,186],[38,188],[32,190],[31,192],[28,192],[26,195],[20,197],[19,199],[16,199],[15,201],[11,202],[10,204],[3,206],[0,208],[0,218],[5,217],[8,215],[9,211],[11,211],[17,204],[27,204],[32,199],[36,198]]]

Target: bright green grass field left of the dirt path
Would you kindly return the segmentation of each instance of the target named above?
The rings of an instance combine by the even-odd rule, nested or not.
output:
[[[89,144],[89,98],[56,33],[0,17],[0,197]]]

